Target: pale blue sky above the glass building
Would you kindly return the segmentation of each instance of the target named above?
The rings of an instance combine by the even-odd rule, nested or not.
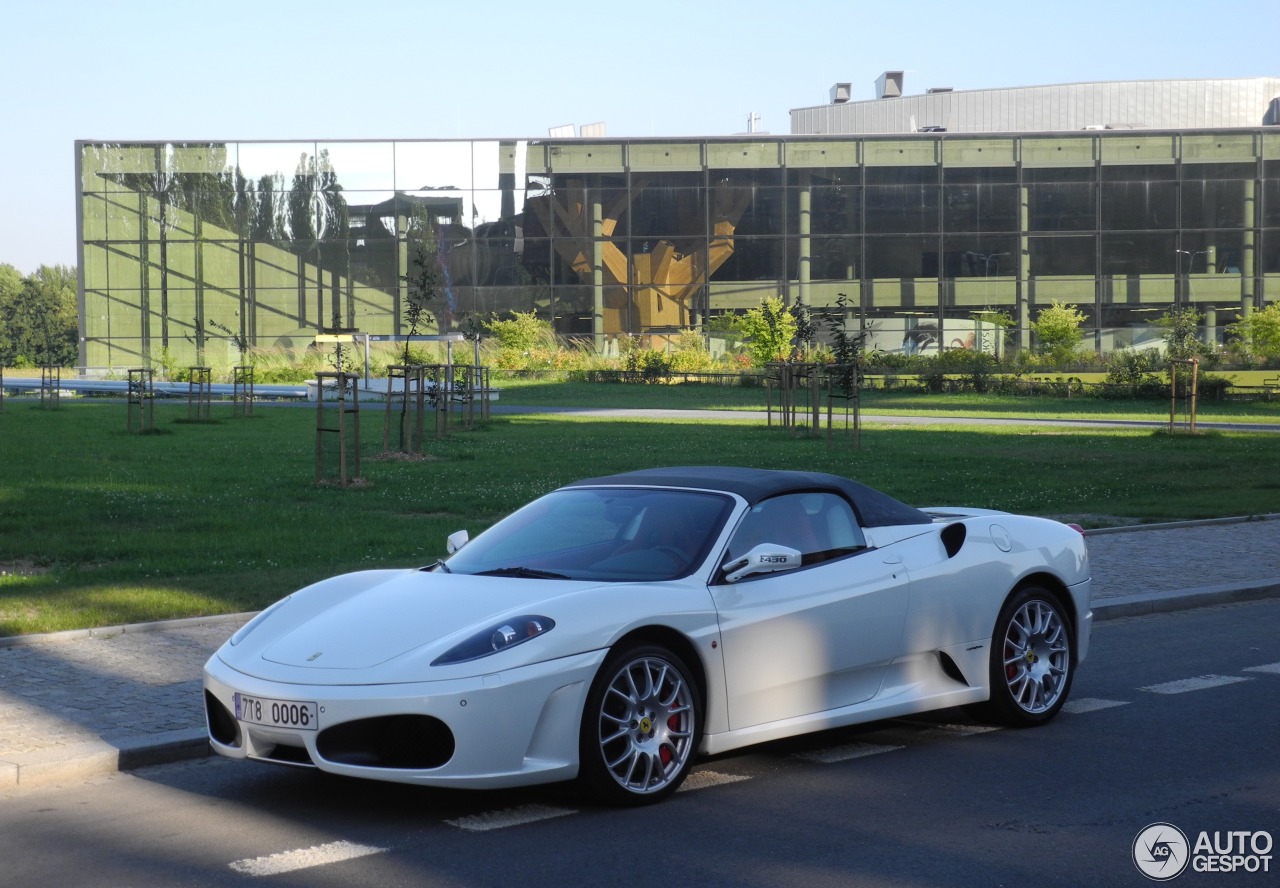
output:
[[[36,0],[0,13],[0,264],[74,265],[76,139],[790,132],[873,99],[1280,77],[1277,0]]]

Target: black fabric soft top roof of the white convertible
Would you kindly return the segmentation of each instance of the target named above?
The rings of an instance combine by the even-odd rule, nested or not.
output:
[[[599,486],[659,486],[692,488],[695,490],[726,490],[737,494],[751,505],[762,499],[785,493],[824,490],[838,493],[847,499],[863,527],[888,527],[891,525],[929,525],[933,519],[919,509],[838,475],[826,472],[794,472],[768,468],[740,468],[736,466],[672,466],[669,468],[641,468],[635,472],[582,479],[566,488]]]

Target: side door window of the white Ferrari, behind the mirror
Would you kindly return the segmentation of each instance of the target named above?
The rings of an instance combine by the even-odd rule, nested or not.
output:
[[[785,494],[751,507],[730,541],[731,558],[762,543],[796,549],[804,563],[827,560],[867,546],[849,503],[836,494]]]

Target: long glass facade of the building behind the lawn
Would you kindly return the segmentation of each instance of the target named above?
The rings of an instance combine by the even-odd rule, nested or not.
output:
[[[1183,306],[1212,340],[1280,298],[1268,127],[78,142],[77,182],[91,371],[403,335],[416,261],[440,280],[428,333],[535,311],[602,351],[776,296],[844,303],[884,351],[1029,347],[1052,302],[1100,351]]]

